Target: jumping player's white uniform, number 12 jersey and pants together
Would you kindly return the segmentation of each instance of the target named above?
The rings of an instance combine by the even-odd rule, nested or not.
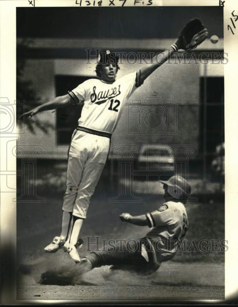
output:
[[[70,143],[63,211],[86,217],[107,160],[111,134],[139,82],[140,70],[111,83],[89,79],[68,93],[75,104],[84,102],[84,106]]]

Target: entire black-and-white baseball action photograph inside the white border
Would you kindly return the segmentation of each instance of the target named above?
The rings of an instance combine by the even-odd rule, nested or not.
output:
[[[104,1],[16,7],[16,300],[225,300],[224,3]]]

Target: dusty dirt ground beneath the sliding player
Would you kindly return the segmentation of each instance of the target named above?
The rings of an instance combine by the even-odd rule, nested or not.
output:
[[[51,255],[52,256],[52,255]],[[78,274],[76,264],[52,266],[52,259],[28,266],[18,282],[17,300],[207,300],[225,297],[224,266],[166,262],[150,276],[109,266]],[[51,268],[51,270],[47,269]],[[23,271],[23,267],[21,267]],[[42,273],[45,279],[41,279]]]

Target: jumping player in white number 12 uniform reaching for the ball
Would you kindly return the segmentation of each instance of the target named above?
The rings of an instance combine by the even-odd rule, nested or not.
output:
[[[54,253],[63,247],[70,259],[80,262],[77,252],[79,233],[90,198],[107,160],[111,134],[117,126],[126,100],[174,52],[195,48],[205,40],[207,34],[201,21],[192,19],[185,25],[176,42],[153,58],[153,64],[146,64],[137,72],[118,80],[116,74],[119,57],[109,50],[101,52],[96,65],[98,79],[86,80],[66,95],[56,97],[24,114],[31,118],[41,111],[84,103],[69,148],[62,231],[60,236],[45,247],[45,251]]]

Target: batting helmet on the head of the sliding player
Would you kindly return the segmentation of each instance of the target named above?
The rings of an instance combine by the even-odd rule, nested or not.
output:
[[[175,199],[180,199],[181,197],[188,196],[191,193],[191,186],[188,181],[181,176],[172,176],[168,181],[160,182],[165,185],[164,189],[168,189],[168,194]]]

